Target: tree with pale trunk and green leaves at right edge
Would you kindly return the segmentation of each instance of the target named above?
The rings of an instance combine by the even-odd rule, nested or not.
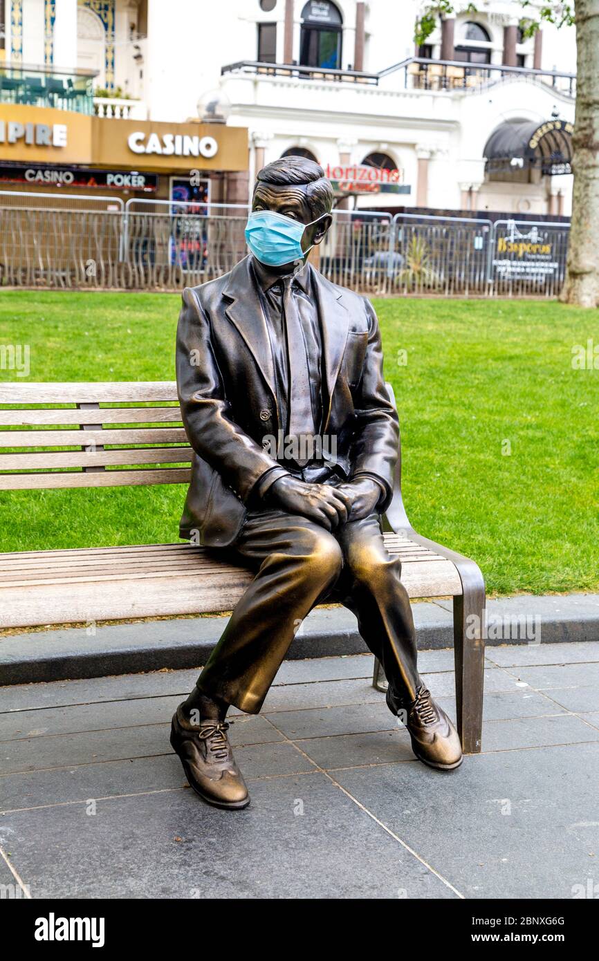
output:
[[[522,29],[532,36],[545,20],[576,27],[577,94],[572,137],[574,190],[566,276],[560,300],[579,307],[599,307],[599,0],[550,2],[541,7],[520,0]],[[526,9],[528,8],[528,10]],[[454,12],[476,12],[475,4],[451,0],[425,3],[414,31],[426,42],[437,18]],[[530,15],[529,15],[530,14]]]

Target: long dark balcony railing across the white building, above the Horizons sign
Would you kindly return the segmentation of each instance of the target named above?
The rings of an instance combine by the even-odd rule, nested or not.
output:
[[[437,61],[422,57],[410,57],[393,63],[378,73],[362,70],[331,70],[297,63],[264,63],[238,61],[221,68],[221,74],[246,76],[270,76],[294,80],[328,81],[343,84],[367,84],[378,86],[391,74],[398,74],[400,89],[477,92],[486,86],[505,81],[523,80],[527,83],[550,86],[564,96],[576,96],[576,74],[561,70],[536,70],[528,67],[504,66],[499,63],[465,63],[462,61]]]

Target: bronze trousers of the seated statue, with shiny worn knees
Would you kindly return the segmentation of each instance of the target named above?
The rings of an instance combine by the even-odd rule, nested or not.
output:
[[[257,714],[297,629],[326,599],[356,614],[393,691],[414,699],[420,678],[412,608],[378,514],[329,533],[298,514],[250,513],[227,556],[256,577],[198,678],[204,694]]]

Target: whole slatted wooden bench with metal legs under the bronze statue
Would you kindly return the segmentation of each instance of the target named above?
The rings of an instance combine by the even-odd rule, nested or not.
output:
[[[0,384],[0,490],[183,484],[190,456],[174,382]],[[458,726],[464,751],[479,752],[485,583],[473,561],[412,529],[400,459],[387,547],[411,598],[453,598]],[[187,543],[0,554],[0,627],[216,613],[251,579]],[[383,689],[378,664],[373,683]]]

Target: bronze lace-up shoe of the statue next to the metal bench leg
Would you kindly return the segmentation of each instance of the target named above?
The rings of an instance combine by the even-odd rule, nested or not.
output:
[[[416,689],[414,701],[403,704],[387,690],[387,706],[410,731],[412,751],[424,764],[437,771],[453,771],[462,764],[462,745],[458,731],[445,711],[433,701],[424,684]]]

